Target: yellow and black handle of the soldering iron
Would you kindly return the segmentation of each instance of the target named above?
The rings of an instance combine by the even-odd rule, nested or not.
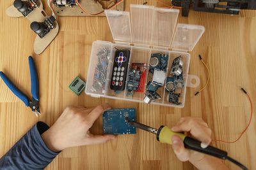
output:
[[[173,135],[179,136],[184,143],[184,147],[189,150],[195,150],[197,152],[205,153],[207,155],[212,155],[220,159],[227,158],[227,152],[220,150],[218,148],[215,148],[213,146],[207,146],[206,148],[202,148],[200,141],[190,138],[188,136],[185,136],[182,133],[173,132],[169,127],[164,125],[159,127],[159,129],[157,130],[156,138],[157,138],[157,141],[160,141],[161,143],[168,143],[172,145]]]

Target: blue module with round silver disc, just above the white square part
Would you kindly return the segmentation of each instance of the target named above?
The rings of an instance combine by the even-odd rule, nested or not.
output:
[[[149,61],[149,74],[153,76],[155,69],[166,71],[169,56],[164,53],[152,53]]]

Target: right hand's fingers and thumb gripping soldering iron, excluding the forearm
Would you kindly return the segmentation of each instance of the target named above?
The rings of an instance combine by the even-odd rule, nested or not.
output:
[[[212,131],[202,118],[184,117],[180,118],[177,125],[172,127],[173,132],[185,132],[186,136],[201,141],[201,147],[206,148],[211,143]],[[194,152],[184,148],[184,143],[179,136],[172,137],[172,148],[178,159],[181,161],[195,162],[204,158],[203,153]]]

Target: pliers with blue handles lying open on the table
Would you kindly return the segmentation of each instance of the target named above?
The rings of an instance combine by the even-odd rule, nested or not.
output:
[[[32,100],[30,100],[15,85],[13,85],[12,81],[2,71],[0,71],[0,76],[3,79],[4,83],[7,85],[7,87],[13,92],[13,94],[19,97],[19,99],[23,101],[27,107],[31,108],[31,110],[35,113],[36,117],[38,117],[38,115],[41,115],[41,113],[39,110],[38,78],[36,73],[36,66],[31,56],[28,57],[28,61],[31,78]]]

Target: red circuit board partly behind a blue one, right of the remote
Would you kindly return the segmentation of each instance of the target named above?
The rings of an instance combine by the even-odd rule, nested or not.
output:
[[[132,69],[141,71],[140,85],[138,90],[134,92],[144,92],[145,82],[147,79],[147,70],[148,70],[147,63],[132,63]]]

